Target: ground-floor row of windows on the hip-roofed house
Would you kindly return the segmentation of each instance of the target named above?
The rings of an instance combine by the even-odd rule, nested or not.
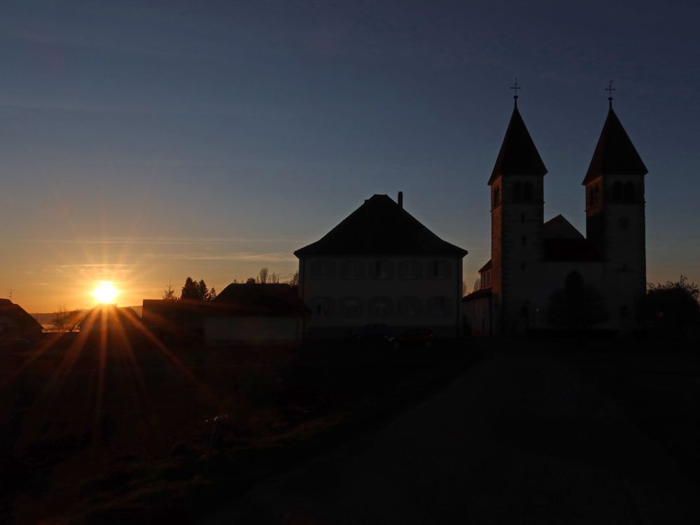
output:
[[[449,314],[449,300],[442,295],[421,297],[409,295],[393,300],[392,297],[343,297],[333,300],[330,297],[316,297],[314,300],[314,314],[317,316],[340,315],[346,317],[360,317],[365,315],[372,317],[388,317],[394,313],[402,316],[417,316],[423,313],[433,316],[446,316]]]

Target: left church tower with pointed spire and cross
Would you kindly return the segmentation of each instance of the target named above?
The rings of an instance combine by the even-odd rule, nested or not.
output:
[[[517,95],[514,99],[510,123],[489,179],[492,318],[496,332],[524,328],[542,261],[547,168],[520,116]]]

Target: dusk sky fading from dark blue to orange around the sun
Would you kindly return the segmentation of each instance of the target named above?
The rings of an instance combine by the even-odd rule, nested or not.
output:
[[[649,169],[647,281],[700,281],[699,19],[690,1],[3,1],[0,296],[55,311],[102,280],[133,305],[187,276],[289,276],[399,190],[473,283],[516,77],[545,220],[585,231],[612,79]]]

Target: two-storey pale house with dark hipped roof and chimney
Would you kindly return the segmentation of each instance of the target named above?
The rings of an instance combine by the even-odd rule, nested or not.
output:
[[[374,195],[319,241],[295,251],[308,337],[369,324],[461,335],[462,258],[387,195]]]

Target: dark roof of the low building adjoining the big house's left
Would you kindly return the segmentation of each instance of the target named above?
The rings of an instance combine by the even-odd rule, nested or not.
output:
[[[296,286],[288,284],[230,284],[213,304],[221,315],[309,314]],[[207,312],[211,313],[211,312]]]

